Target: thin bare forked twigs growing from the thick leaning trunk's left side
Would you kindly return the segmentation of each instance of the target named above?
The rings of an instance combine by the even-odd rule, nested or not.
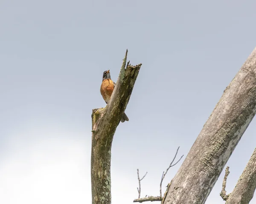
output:
[[[182,155],[182,156],[179,158],[179,160],[178,160],[177,162],[175,162],[175,164],[173,164],[173,162],[175,161],[175,158],[176,158],[176,156],[177,156],[177,153],[178,153],[179,149],[180,149],[180,147],[177,148],[176,153],[175,153],[175,156],[174,156],[174,158],[172,159],[171,164],[170,164],[169,167],[166,169],[166,171],[163,172],[163,174],[162,174],[162,178],[161,178],[161,182],[160,182],[160,196],[149,196],[149,197],[145,196],[145,198],[140,198],[140,190],[141,190],[141,189],[140,189],[140,181],[141,181],[143,178],[145,178],[145,175],[146,175],[148,172],[146,172],[146,174],[143,176],[143,178],[140,179],[139,170],[137,169],[138,180],[139,180],[139,189],[137,188],[137,190],[138,190],[138,193],[139,193],[139,198],[138,198],[138,199],[134,199],[134,203],[135,203],[135,202],[140,202],[140,203],[142,203],[142,202],[145,202],[145,201],[162,201],[162,200],[163,200],[163,197],[162,197],[162,183],[163,183],[163,179],[164,179],[165,175],[167,174],[168,170],[169,170],[171,167],[175,166],[175,165],[181,160],[181,158],[184,156],[184,155]],[[168,186],[167,186],[167,189],[168,189],[168,187],[169,187],[169,184],[168,184]],[[166,195],[166,194],[165,194],[165,195]]]

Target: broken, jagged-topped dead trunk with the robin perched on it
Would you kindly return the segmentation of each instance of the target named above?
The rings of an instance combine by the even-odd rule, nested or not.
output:
[[[111,144],[140,71],[140,66],[125,69],[127,51],[111,99],[105,108],[93,109],[91,187],[92,204],[111,204]]]

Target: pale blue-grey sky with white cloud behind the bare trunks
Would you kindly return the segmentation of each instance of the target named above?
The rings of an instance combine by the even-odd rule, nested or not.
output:
[[[91,203],[92,109],[128,49],[142,63],[112,144],[112,204],[159,195],[256,46],[256,2],[0,1],[0,203]],[[230,193],[256,144],[251,122],[227,162]],[[184,158],[172,167],[163,189]],[[227,166],[226,165],[226,166]],[[224,203],[224,170],[206,204]],[[164,190],[163,190],[164,191]],[[251,203],[256,203],[253,198]]]

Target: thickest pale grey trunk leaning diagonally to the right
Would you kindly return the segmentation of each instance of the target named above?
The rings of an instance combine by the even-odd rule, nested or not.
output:
[[[204,124],[164,204],[203,204],[255,113],[256,48]]]

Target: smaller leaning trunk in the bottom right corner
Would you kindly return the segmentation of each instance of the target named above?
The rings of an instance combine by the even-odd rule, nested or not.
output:
[[[256,149],[241,174],[226,204],[248,204],[256,189]]]

